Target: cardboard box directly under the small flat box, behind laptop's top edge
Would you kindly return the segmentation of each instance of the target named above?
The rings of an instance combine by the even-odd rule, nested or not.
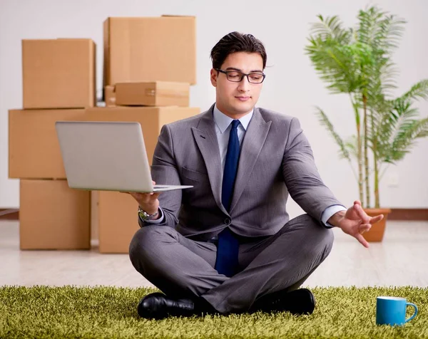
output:
[[[200,113],[199,108],[188,107],[124,107],[88,108],[83,120],[86,121],[136,121],[143,130],[144,143],[151,165],[153,152],[163,125],[189,118]]]

